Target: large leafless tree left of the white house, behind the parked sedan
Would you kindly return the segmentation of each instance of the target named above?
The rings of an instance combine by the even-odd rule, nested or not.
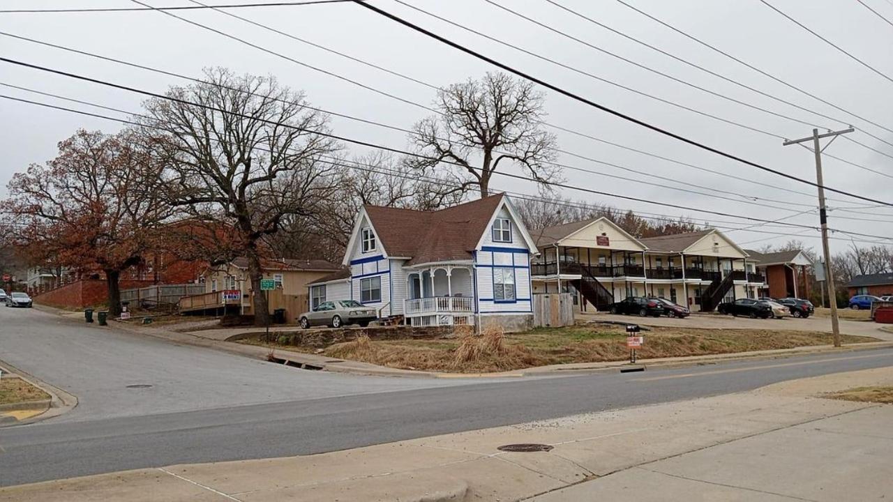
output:
[[[272,77],[225,69],[167,96],[146,102],[141,120],[167,160],[171,205],[230,232],[230,248],[248,262],[255,322],[265,324],[263,238],[290,216],[313,214],[336,190],[337,170],[323,160],[339,148],[323,136],[328,118]]]

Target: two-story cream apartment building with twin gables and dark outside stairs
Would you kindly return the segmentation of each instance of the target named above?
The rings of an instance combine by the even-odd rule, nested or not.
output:
[[[747,252],[716,229],[638,239],[602,217],[531,233],[534,292],[571,292],[580,310],[652,296],[711,311],[764,285]]]

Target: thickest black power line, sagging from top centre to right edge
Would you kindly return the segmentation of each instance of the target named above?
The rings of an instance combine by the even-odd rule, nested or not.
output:
[[[476,51],[474,51],[474,50],[472,50],[472,49],[470,49],[470,48],[468,48],[468,47],[465,47],[465,46],[463,46],[463,45],[461,45],[461,44],[458,44],[458,43],[456,43],[456,42],[454,42],[454,41],[452,41],[452,40],[449,40],[449,39],[447,39],[447,38],[441,37],[441,36],[439,36],[438,34],[429,31],[428,29],[423,29],[423,28],[421,28],[420,26],[417,26],[417,25],[413,24],[412,22],[405,21],[404,19],[402,19],[402,18],[400,18],[400,17],[398,17],[398,16],[396,16],[396,15],[394,15],[394,14],[392,14],[392,13],[388,13],[387,11],[383,11],[383,10],[381,10],[380,8],[378,8],[378,7],[374,6],[374,5],[365,3],[365,2],[363,2],[363,0],[352,0],[352,1],[353,1],[355,4],[360,5],[360,6],[362,6],[362,7],[365,8],[365,9],[369,9],[369,10],[371,10],[371,11],[374,12],[374,13],[379,13],[380,15],[382,15],[382,16],[384,16],[384,17],[387,17],[388,19],[390,19],[390,20],[392,20],[392,21],[396,21],[396,22],[398,22],[398,23],[400,23],[400,24],[406,26],[407,28],[414,29],[414,30],[420,32],[421,34],[426,35],[427,37],[434,38],[434,39],[438,40],[439,42],[442,42],[442,43],[444,43],[444,44],[447,44],[448,46],[454,47],[455,49],[458,49],[458,50],[462,51],[462,52],[465,53],[465,54],[470,54],[470,55],[472,55],[472,56],[474,56],[474,57],[480,59],[481,61],[485,61],[485,62],[487,62],[487,63],[493,64],[494,66],[497,66],[497,68],[501,68],[501,69],[503,69],[503,70],[505,70],[505,71],[510,71],[510,72],[514,73],[515,75],[518,75],[518,76],[520,76],[520,77],[522,77],[522,78],[524,78],[524,79],[528,79],[528,80],[530,80],[530,81],[532,81],[532,82],[534,82],[534,83],[537,83],[537,84],[539,84],[539,85],[541,85],[541,86],[543,86],[543,87],[545,87],[545,88],[552,89],[552,90],[554,90],[555,92],[557,92],[557,93],[559,93],[559,94],[562,94],[563,96],[568,96],[568,97],[572,98],[572,99],[575,100],[575,101],[579,101],[580,103],[583,103],[583,104],[585,104],[585,105],[592,106],[593,108],[596,108],[596,109],[598,109],[598,110],[601,110],[601,111],[603,111],[603,112],[605,112],[605,113],[610,113],[610,114],[612,114],[613,116],[618,117],[618,118],[620,118],[620,119],[622,119],[622,120],[624,120],[624,121],[630,121],[630,122],[632,122],[632,123],[634,123],[634,124],[636,124],[636,125],[638,125],[638,126],[644,127],[644,128],[646,128],[646,129],[649,129],[649,130],[654,130],[655,132],[658,132],[658,133],[660,133],[660,134],[663,134],[664,136],[667,136],[667,137],[670,137],[670,138],[679,140],[679,141],[681,141],[681,142],[683,142],[683,143],[686,143],[686,144],[689,144],[689,145],[691,145],[691,146],[697,146],[698,148],[701,148],[701,149],[703,149],[703,150],[705,150],[705,151],[711,152],[711,153],[713,153],[713,154],[715,154],[715,155],[720,155],[720,156],[722,156],[722,157],[725,157],[725,158],[728,158],[728,159],[737,161],[737,162],[739,162],[739,163],[744,163],[744,164],[746,164],[746,165],[749,165],[749,166],[751,166],[751,167],[755,167],[755,168],[760,169],[760,170],[762,170],[762,171],[765,171],[765,172],[772,172],[773,174],[776,174],[776,175],[781,176],[781,177],[783,177],[783,178],[788,178],[789,180],[797,180],[798,182],[805,183],[805,184],[807,184],[807,185],[811,185],[811,186],[813,186],[813,187],[818,187],[818,186],[819,186],[819,185],[818,185],[817,183],[815,183],[814,181],[804,180],[804,179],[799,178],[799,177],[797,177],[797,176],[794,176],[794,175],[792,175],[792,174],[788,174],[787,172],[780,172],[780,171],[777,171],[777,170],[775,170],[775,169],[772,169],[772,168],[766,167],[766,166],[764,166],[764,165],[761,165],[761,164],[759,164],[759,163],[755,163],[755,162],[748,161],[748,160],[743,159],[743,158],[741,158],[741,157],[739,157],[739,156],[737,156],[737,155],[732,155],[732,154],[723,152],[722,150],[719,150],[719,149],[717,149],[717,148],[714,148],[713,146],[707,146],[707,145],[704,145],[703,143],[699,143],[699,142],[697,142],[697,141],[695,141],[695,140],[693,140],[693,139],[689,139],[689,138],[683,137],[683,136],[681,136],[681,135],[679,135],[679,134],[676,134],[676,133],[671,132],[671,131],[669,131],[669,130],[664,130],[664,129],[662,129],[662,128],[658,127],[658,126],[655,126],[655,125],[653,125],[653,124],[650,124],[650,123],[648,123],[648,122],[646,122],[646,121],[641,121],[641,120],[636,119],[635,117],[632,117],[632,116],[627,115],[627,114],[625,114],[625,113],[618,112],[618,111],[613,110],[612,108],[610,108],[610,107],[608,107],[608,106],[605,106],[605,105],[599,105],[599,104],[597,104],[596,102],[594,102],[594,101],[592,101],[592,100],[590,100],[590,99],[588,99],[588,98],[585,98],[585,97],[582,97],[582,96],[578,96],[578,95],[572,93],[571,91],[568,91],[568,90],[565,90],[565,89],[560,88],[560,87],[558,87],[558,86],[555,86],[554,84],[550,84],[550,83],[548,83],[547,81],[545,81],[545,80],[543,80],[543,79],[538,79],[537,77],[533,77],[532,75],[530,75],[530,74],[528,74],[528,73],[526,73],[526,72],[524,72],[524,71],[516,70],[516,69],[514,69],[513,67],[511,67],[511,66],[509,66],[509,65],[507,65],[507,64],[505,64],[505,63],[500,63],[500,62],[498,62],[497,60],[495,60],[495,59],[493,59],[493,58],[490,58],[490,57],[488,57],[488,56],[486,56],[486,55],[484,55],[484,54],[480,54],[479,52],[476,52]],[[848,197],[854,197],[854,198],[858,198],[858,199],[861,199],[861,200],[866,200],[866,201],[868,201],[868,202],[875,202],[875,203],[882,204],[882,205],[893,206],[893,204],[891,204],[891,203],[889,203],[889,202],[880,201],[880,200],[877,200],[877,199],[873,199],[873,198],[871,198],[871,197],[858,196],[858,195],[855,195],[855,194],[853,194],[853,193],[847,192],[847,191],[845,191],[845,190],[839,190],[838,188],[829,188],[829,187],[823,187],[823,188],[825,188],[825,189],[827,189],[827,190],[829,190],[829,191],[832,191],[832,192],[836,192],[836,193],[839,193],[839,194],[842,194],[842,195],[846,195],[846,196],[848,196]]]

